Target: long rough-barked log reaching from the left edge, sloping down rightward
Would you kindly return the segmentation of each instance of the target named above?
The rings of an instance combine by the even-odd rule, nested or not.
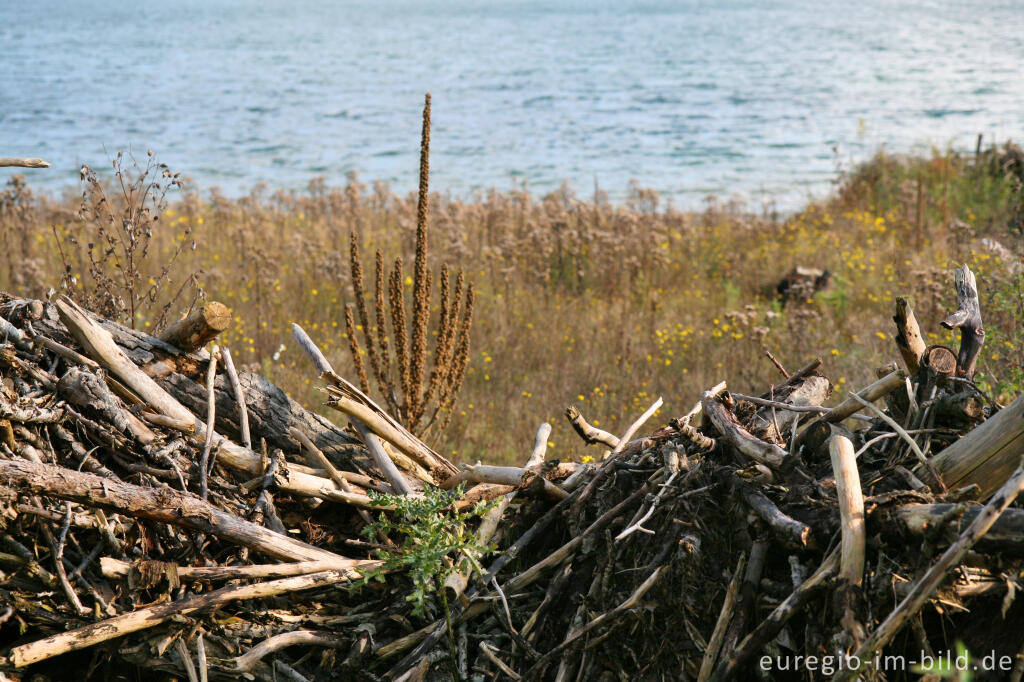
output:
[[[208,532],[278,559],[337,561],[338,567],[344,568],[351,563],[343,556],[267,530],[169,487],[141,487],[53,464],[22,460],[0,460],[0,482],[29,495],[69,500]]]

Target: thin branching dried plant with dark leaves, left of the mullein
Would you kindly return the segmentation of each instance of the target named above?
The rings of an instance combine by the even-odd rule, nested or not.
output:
[[[167,195],[180,188],[183,181],[167,164],[158,163],[153,152],[146,157],[143,167],[130,155],[126,159],[123,152],[118,153],[113,162],[111,196],[96,172],[82,166],[85,188],[78,219],[88,242],[82,245],[75,235],[52,231],[63,264],[61,287],[69,296],[101,315],[127,321],[132,329],[144,312],[152,317],[152,327],[160,330],[186,291],[191,291],[193,305],[202,297],[202,290],[200,272],[187,275],[176,290],[171,279],[178,257],[186,249],[196,249],[190,223],[166,229],[174,244],[170,254],[165,254],[159,265],[148,262],[160,217],[167,209]]]

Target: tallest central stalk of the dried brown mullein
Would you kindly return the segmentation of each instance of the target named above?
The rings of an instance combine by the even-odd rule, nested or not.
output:
[[[413,274],[413,329],[409,338],[409,383],[406,393],[410,426],[423,416],[420,387],[427,364],[427,325],[430,322],[430,271],[427,269],[427,214],[430,210],[430,93],[423,104],[420,137],[420,191],[416,207],[416,263]]]

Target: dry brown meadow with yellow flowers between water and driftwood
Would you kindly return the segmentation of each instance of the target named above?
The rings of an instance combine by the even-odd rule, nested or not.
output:
[[[204,272],[207,295],[236,313],[222,342],[240,361],[315,407],[323,398],[291,344],[289,323],[308,330],[354,379],[345,306],[356,304],[348,326],[362,338],[362,352],[361,335],[379,336],[385,317],[383,306],[373,315],[359,309],[349,235],[380,252],[378,300],[406,299],[415,286],[400,267],[385,282],[385,258],[415,262],[416,280],[442,261],[454,263],[476,284],[473,350],[439,446],[456,459],[518,462],[537,425],[550,421],[550,456],[579,458],[585,451],[560,418],[567,403],[618,432],[664,395],[659,419],[667,421],[722,379],[738,391],[764,389],[776,376],[765,349],[791,369],[820,355],[840,391],[869,381],[876,366],[895,356],[889,317],[897,295],[911,299],[929,341],[955,345],[938,321],[954,303],[949,271],[961,261],[978,273],[983,290],[984,385],[1004,399],[1019,390],[1024,282],[1007,254],[981,239],[994,238],[1020,257],[1019,183],[983,160],[880,156],[843,178],[833,200],[785,219],[716,204],[683,213],[645,190],[634,190],[623,206],[567,188],[540,199],[521,191],[468,201],[435,194],[431,250],[423,254],[415,250],[416,194],[395,196],[383,184],[351,177],[335,189],[316,180],[305,193],[258,188],[238,200],[188,191],[164,211],[139,269],[142,278],[157,278],[187,229],[199,248],[174,261],[170,287]],[[0,196],[8,252],[0,287],[39,295],[58,286],[51,227],[58,235],[83,229],[71,201],[34,196],[24,184]],[[813,300],[783,309],[774,284],[797,264],[826,267],[835,282]],[[454,323],[440,319],[440,310],[451,308],[444,296],[457,299],[462,286],[442,289],[442,300],[430,306],[432,335],[451,331]],[[143,329],[155,324],[145,311],[135,316]],[[424,372],[399,370],[421,379]]]

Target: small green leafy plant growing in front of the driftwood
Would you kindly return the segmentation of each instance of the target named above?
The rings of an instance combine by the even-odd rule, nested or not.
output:
[[[454,491],[427,487],[423,496],[395,496],[371,493],[374,506],[392,507],[381,512],[377,520],[362,529],[368,538],[393,534],[400,536],[395,549],[379,550],[383,564],[368,571],[364,582],[384,581],[384,574],[407,571],[413,590],[406,599],[413,604],[415,615],[429,615],[436,610],[435,597],[443,597],[444,581],[456,571],[474,570],[482,573],[479,558],[495,550],[493,545],[479,542],[468,524],[482,516],[494,502],[478,502],[467,509],[453,503],[462,497],[464,485]]]

